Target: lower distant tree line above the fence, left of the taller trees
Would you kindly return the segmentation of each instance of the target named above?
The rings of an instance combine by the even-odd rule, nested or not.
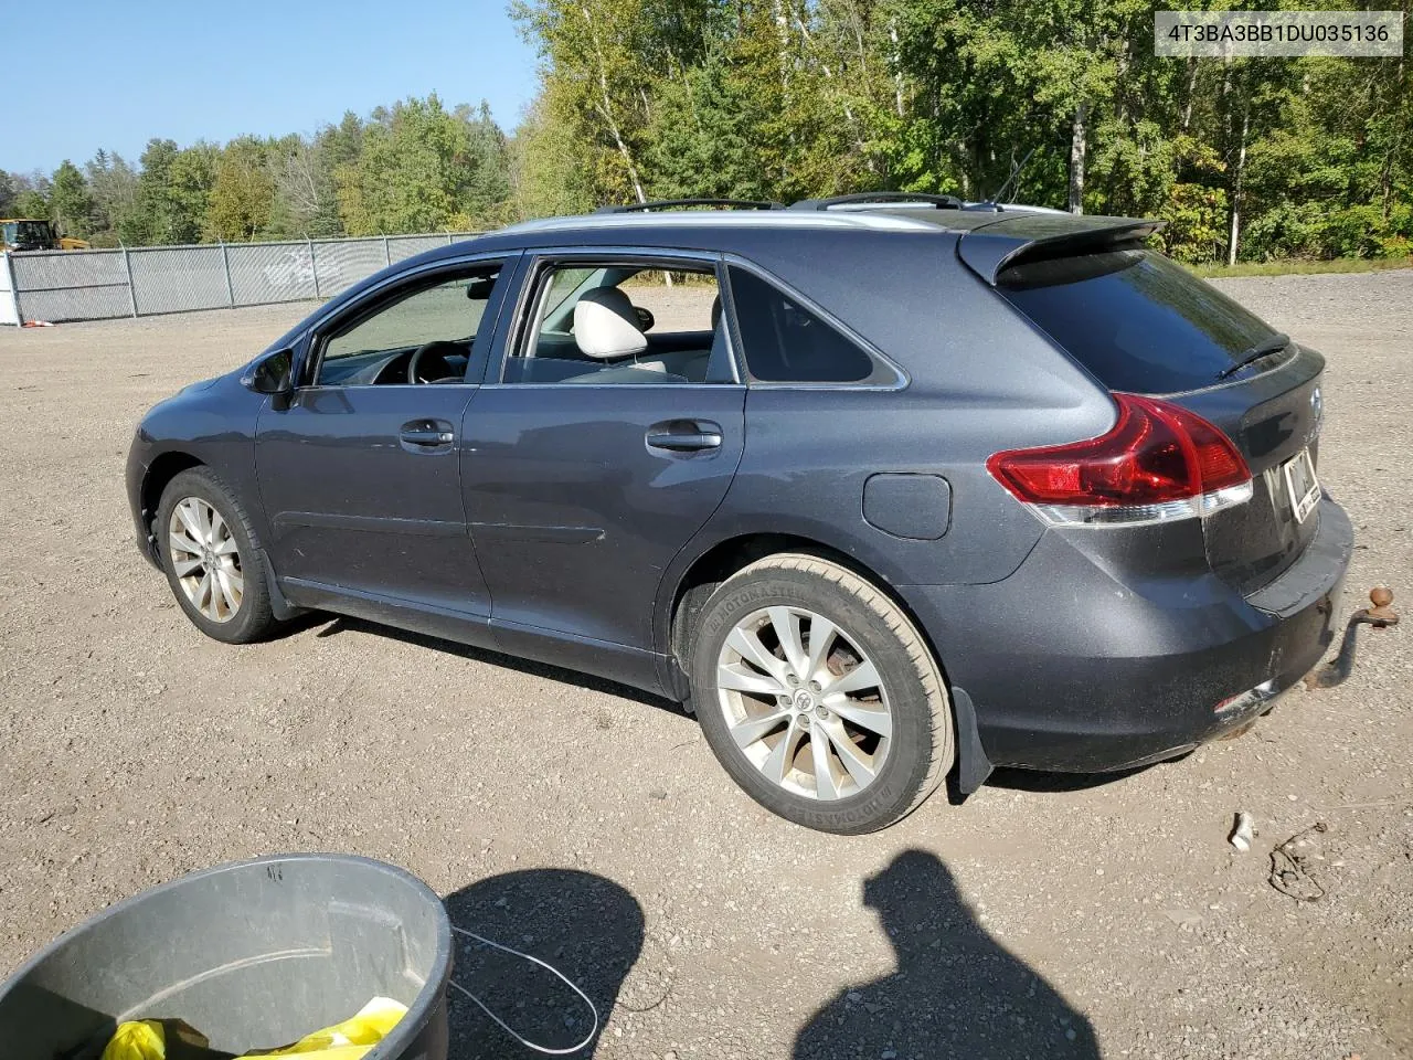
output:
[[[0,171],[0,206],[95,246],[483,228],[514,213],[510,155],[485,103],[431,96],[367,122],[345,113],[312,137],[153,139],[137,168],[100,148],[52,179]]]

